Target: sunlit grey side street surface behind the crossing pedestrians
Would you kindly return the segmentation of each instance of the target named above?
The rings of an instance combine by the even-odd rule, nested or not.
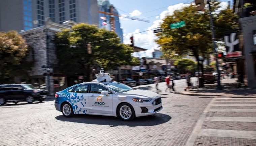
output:
[[[194,86],[198,84],[197,80],[198,78],[196,77],[191,78],[191,82],[193,83]],[[166,82],[161,82],[158,84],[158,89],[160,89],[163,92],[165,91],[166,87],[167,87]],[[186,87],[187,87],[186,79],[174,80],[174,89],[177,92],[183,91],[184,88]],[[134,87],[134,89],[149,90],[152,92],[156,92],[155,84],[140,85],[140,86]]]

